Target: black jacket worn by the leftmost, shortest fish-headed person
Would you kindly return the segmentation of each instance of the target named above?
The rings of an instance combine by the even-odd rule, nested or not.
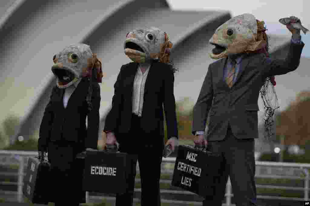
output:
[[[88,112],[86,96],[90,81],[82,78],[64,108],[64,89],[55,86],[40,125],[38,149],[47,151],[49,141],[69,141],[97,149],[99,133],[100,86],[93,83],[92,110]],[[87,116],[87,128],[86,128]]]

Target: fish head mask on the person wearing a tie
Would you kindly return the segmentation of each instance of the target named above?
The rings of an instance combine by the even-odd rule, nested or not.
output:
[[[258,40],[258,21],[252,14],[238,15],[218,27],[209,43],[215,45],[209,54],[213,59],[220,59],[265,48],[267,42]]]

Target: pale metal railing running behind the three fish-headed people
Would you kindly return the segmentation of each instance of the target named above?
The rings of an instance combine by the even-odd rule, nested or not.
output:
[[[18,166],[18,172],[0,172],[0,176],[17,176],[18,180],[16,182],[0,182],[2,185],[17,185],[17,201],[23,202],[23,179],[25,176],[24,169],[27,166],[28,157],[37,156],[37,152],[29,152],[29,151],[14,151],[14,150],[0,150],[0,165],[2,166]],[[174,169],[175,159],[173,157],[163,158],[162,159],[162,174],[172,174]],[[138,168],[138,167],[137,167]],[[303,187],[286,187],[286,186],[272,186],[272,185],[256,185],[257,188],[269,188],[269,189],[282,189],[282,190],[296,190],[303,191],[303,198],[292,198],[292,197],[279,197],[279,196],[264,196],[258,195],[258,199],[268,199],[268,200],[294,200],[294,201],[307,201],[309,200],[309,172],[310,164],[299,164],[299,163],[287,163],[287,162],[259,162],[256,161],[256,174],[257,178],[271,178],[271,179],[299,179],[303,180]],[[137,171],[139,173],[139,170]],[[272,173],[272,174],[268,174]],[[140,179],[136,179],[136,182],[139,182]],[[169,183],[171,184],[171,180],[160,180],[161,183]],[[135,188],[135,191],[139,192],[139,188]],[[2,191],[2,193],[12,193],[12,191]],[[14,192],[13,192],[14,193]],[[16,192],[15,192],[16,193]],[[189,191],[184,190],[162,190],[161,193],[170,193],[170,194],[184,194],[184,195],[196,195]],[[232,198],[232,187],[230,180],[228,179],[227,187],[226,187],[226,205],[231,204]],[[89,202],[89,199],[97,199],[100,200],[103,197],[99,196],[89,196],[88,192],[86,192],[86,203]],[[109,197],[104,197],[105,199]],[[197,204],[201,205],[199,202],[187,202],[187,201],[178,201],[178,200],[162,200],[162,202],[170,202],[170,203],[181,203],[184,204]]]

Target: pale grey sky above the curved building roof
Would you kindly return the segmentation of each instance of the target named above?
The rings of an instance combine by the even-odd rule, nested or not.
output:
[[[251,13],[256,19],[263,20],[268,34],[290,36],[284,25],[278,22],[280,18],[296,16],[301,19],[304,27],[310,29],[310,1],[308,0],[234,0],[234,1],[205,1],[205,0],[167,0],[173,10],[194,11],[229,11],[232,16]],[[302,33],[305,44],[310,43],[310,36]],[[303,56],[310,57],[310,47],[305,46]]]

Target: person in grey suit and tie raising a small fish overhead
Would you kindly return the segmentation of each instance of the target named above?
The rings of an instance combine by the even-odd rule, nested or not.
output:
[[[257,205],[254,139],[258,138],[259,91],[267,78],[297,69],[304,46],[300,30],[289,24],[292,40],[286,59],[266,57],[268,39],[263,24],[250,14],[236,16],[210,40],[216,46],[210,56],[221,59],[209,65],[193,109],[192,132],[197,135],[195,144],[222,154],[224,160],[216,195],[206,196],[203,205],[222,205],[228,176],[236,205]]]

